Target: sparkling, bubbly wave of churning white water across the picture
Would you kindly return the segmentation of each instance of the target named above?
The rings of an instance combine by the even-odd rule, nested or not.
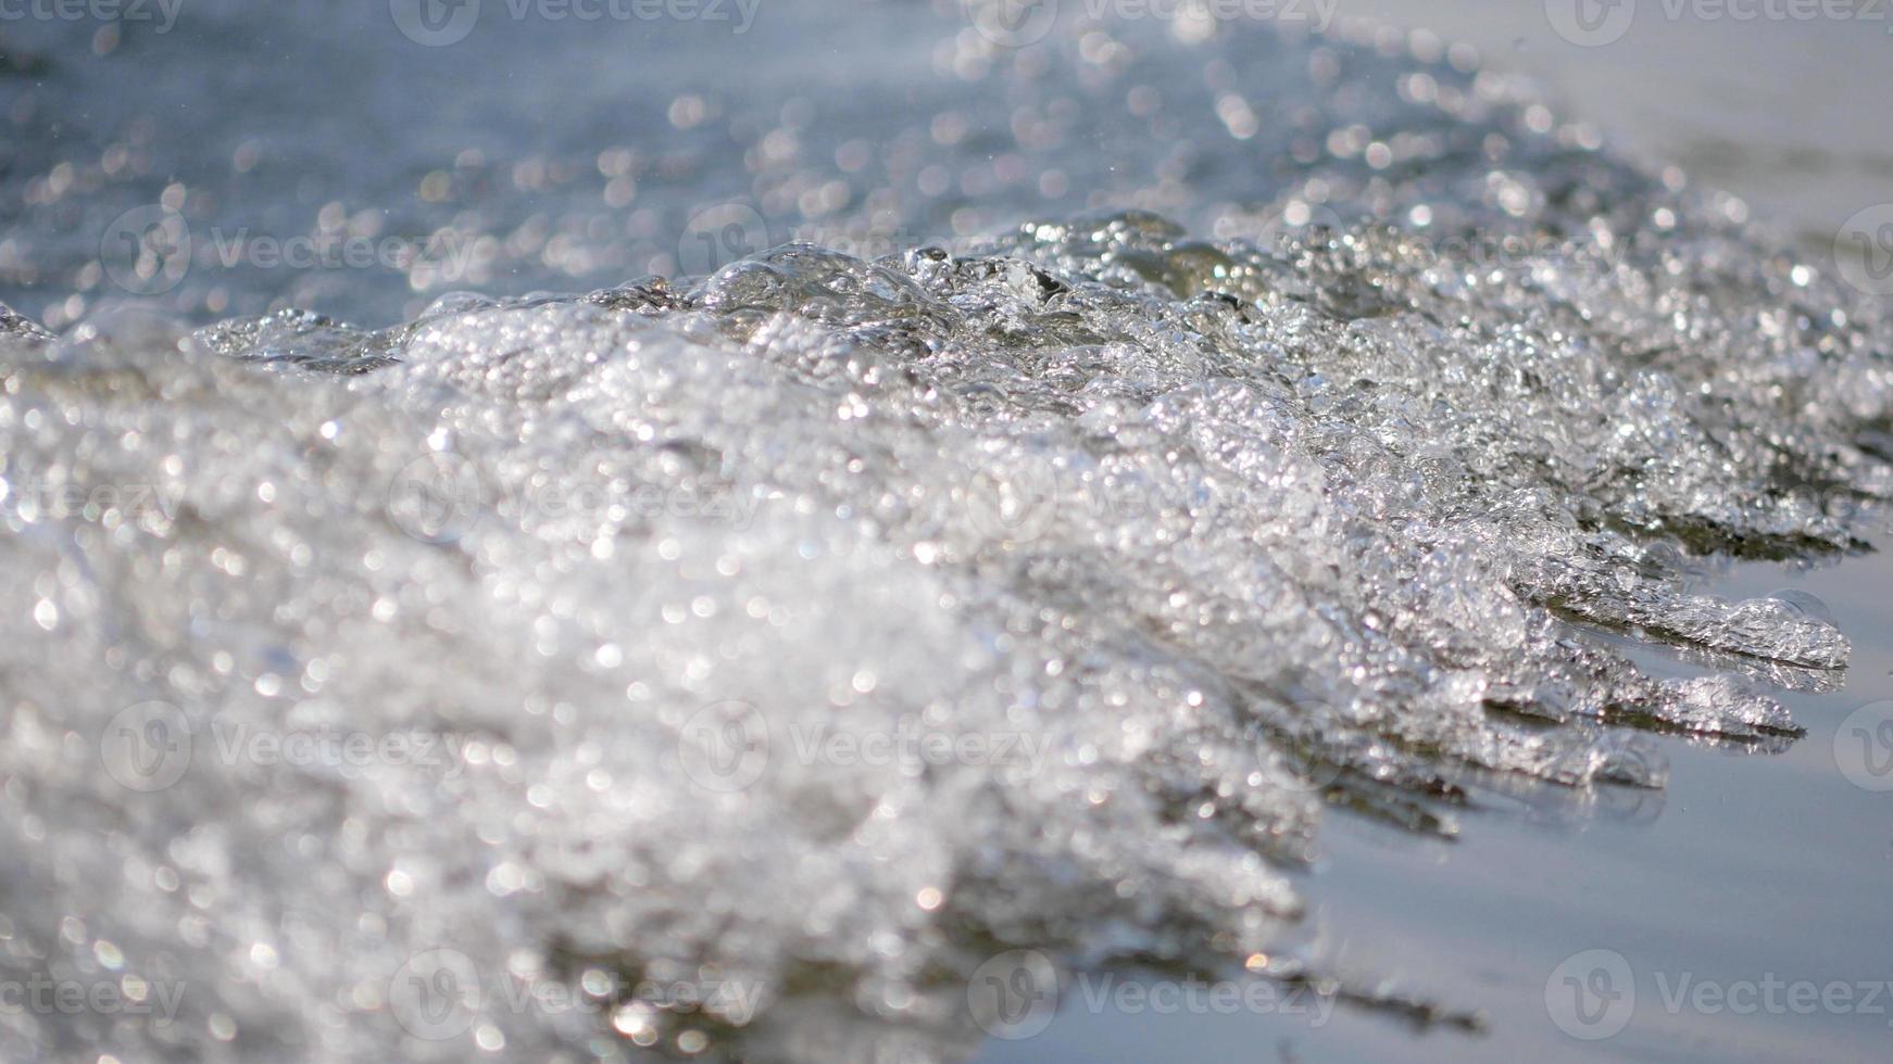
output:
[[[0,1013],[0,1056],[958,1058],[1013,949],[1444,1015],[1477,988],[1297,949],[1323,811],[1450,833],[1507,777],[1662,786],[1643,729],[1793,741],[1768,686],[1846,639],[1685,578],[1857,546],[1880,306],[1429,38],[897,17],[897,98],[687,94],[649,144],[716,146],[538,221],[596,119],[447,166],[475,282],[619,266],[587,219],[644,170],[740,178],[712,246],[827,234],[589,295],[199,248],[108,299],[150,174],[21,149],[9,291],[80,314],[0,338],[0,973],[146,1007]],[[182,183],[193,232],[267,198]],[[343,306],[254,316],[299,293]]]

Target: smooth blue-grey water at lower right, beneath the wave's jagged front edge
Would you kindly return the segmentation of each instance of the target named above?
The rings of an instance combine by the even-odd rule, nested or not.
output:
[[[1482,803],[1456,841],[1329,818],[1310,873],[1321,886],[1310,918],[1321,952],[1382,958],[1378,970],[1406,988],[1446,987],[1452,1005],[1484,1015],[1484,1032],[1346,1005],[1319,1026],[1304,1015],[1068,1007],[1045,1034],[988,1043],[981,1060],[1887,1060],[1885,1011],[1798,1015],[1778,992],[1776,1013],[1704,1013],[1666,1007],[1664,992],[1685,979],[1889,979],[1893,796],[1853,786],[1836,764],[1846,716],[1893,697],[1889,584],[1884,550],[1704,580],[1732,599],[1813,593],[1853,639],[1842,690],[1781,694],[1808,729],[1783,754],[1732,756],[1658,737],[1666,790]],[[1653,675],[1706,671],[1660,652],[1634,656]],[[1583,1041],[1550,1019],[1547,983],[1566,958],[1594,949],[1630,962],[1634,1013],[1622,1032]],[[1391,970],[1389,956],[1399,958]]]

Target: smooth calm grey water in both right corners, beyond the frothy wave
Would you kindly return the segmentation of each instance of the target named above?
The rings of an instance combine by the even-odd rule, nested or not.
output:
[[[1670,19],[1653,0],[1632,8],[1630,30],[1603,47],[1562,40],[1535,2],[1346,0],[1342,11],[1477,45],[1486,64],[1539,79],[1620,149],[1738,193],[1762,225],[1817,253],[1849,215],[1893,200],[1893,23],[1740,23],[1689,8]],[[1840,690],[1779,692],[1808,729],[1787,752],[1730,756],[1656,737],[1672,769],[1666,790],[1488,805],[1450,843],[1329,818],[1312,871],[1323,949],[1401,958],[1382,973],[1418,990],[1454,987],[1450,1004],[1478,1009],[1482,1034],[1346,1005],[1319,1028],[1289,1015],[1068,1005],[1045,1034],[988,1043],[981,1058],[1893,1060],[1893,1004],[1878,1015],[1706,1015],[1664,1002],[1664,987],[1685,977],[1723,987],[1893,979],[1893,794],[1853,786],[1836,764],[1848,714],[1893,699],[1885,525],[1872,554],[1743,563],[1696,580],[1732,601],[1813,593],[1853,641]],[[1619,646],[1653,675],[1713,671]],[[1560,962],[1594,949],[1630,962],[1636,1011],[1620,1034],[1583,1041],[1552,1022],[1547,983]],[[1461,1000],[1467,992],[1473,1000]]]

